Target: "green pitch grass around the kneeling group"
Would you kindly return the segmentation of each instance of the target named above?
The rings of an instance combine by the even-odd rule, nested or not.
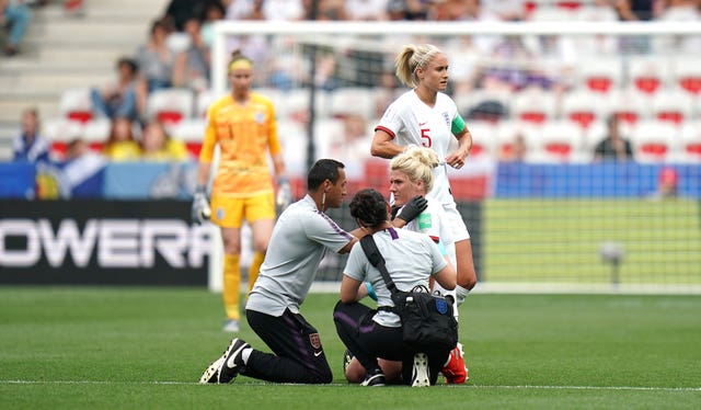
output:
[[[334,381],[199,385],[228,345],[204,288],[0,287],[0,409],[699,409],[701,297],[470,295],[461,386],[367,388],[342,375],[335,294],[302,314]],[[245,323],[240,337],[266,350]]]

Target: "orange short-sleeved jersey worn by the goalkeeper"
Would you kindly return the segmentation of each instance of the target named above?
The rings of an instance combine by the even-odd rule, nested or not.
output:
[[[207,110],[207,128],[199,152],[202,162],[211,162],[219,145],[219,163],[211,195],[246,197],[273,191],[268,166],[271,156],[281,152],[273,102],[255,92],[239,104],[231,95],[217,100]]]

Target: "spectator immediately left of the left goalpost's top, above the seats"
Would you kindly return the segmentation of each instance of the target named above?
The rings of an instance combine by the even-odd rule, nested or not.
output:
[[[188,46],[175,57],[173,86],[188,87],[196,93],[209,89],[209,47],[202,36],[202,23],[192,18],[185,22]]]

